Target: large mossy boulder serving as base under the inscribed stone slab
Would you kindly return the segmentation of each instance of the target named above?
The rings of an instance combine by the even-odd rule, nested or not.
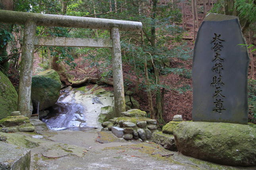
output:
[[[173,136],[183,155],[230,166],[256,165],[256,125],[182,122]]]

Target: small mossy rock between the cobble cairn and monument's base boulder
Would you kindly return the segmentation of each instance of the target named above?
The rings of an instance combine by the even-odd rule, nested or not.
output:
[[[152,141],[164,146],[165,149],[177,151],[173,135],[164,134],[163,132],[155,132],[152,134]]]

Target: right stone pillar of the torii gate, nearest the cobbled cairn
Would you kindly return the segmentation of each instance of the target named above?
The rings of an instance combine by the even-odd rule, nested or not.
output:
[[[113,67],[113,83],[114,83],[114,99],[115,99],[115,115],[121,116],[121,112],[125,111],[125,93],[123,88],[123,71],[121,59],[121,45],[118,28],[111,28],[110,38],[112,38],[112,67]]]

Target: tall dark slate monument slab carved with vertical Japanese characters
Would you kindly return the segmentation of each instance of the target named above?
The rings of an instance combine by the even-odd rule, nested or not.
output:
[[[247,124],[249,57],[238,44],[246,44],[238,17],[205,17],[194,46],[193,121]]]

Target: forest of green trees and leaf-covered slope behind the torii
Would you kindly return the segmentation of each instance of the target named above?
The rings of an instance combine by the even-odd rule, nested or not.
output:
[[[256,0],[0,0],[0,9],[142,22],[141,32],[120,32],[124,85],[160,125],[176,114],[192,119],[192,53],[204,17],[209,12],[239,16],[251,59],[248,116],[256,122]],[[23,25],[0,24],[0,71],[14,87],[23,30]],[[39,35],[109,38],[109,31],[37,26]],[[98,83],[113,90],[110,49],[37,47],[33,74],[46,69],[56,70],[65,85]]]

